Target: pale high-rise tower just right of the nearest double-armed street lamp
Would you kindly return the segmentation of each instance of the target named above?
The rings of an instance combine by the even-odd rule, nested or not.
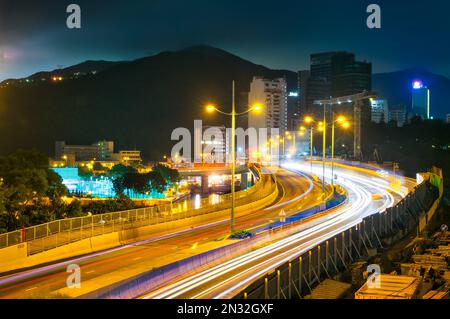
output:
[[[249,105],[261,104],[261,112],[250,112],[248,127],[256,129],[278,128],[281,134],[287,130],[287,85],[283,78],[265,79],[253,77],[248,95]]]

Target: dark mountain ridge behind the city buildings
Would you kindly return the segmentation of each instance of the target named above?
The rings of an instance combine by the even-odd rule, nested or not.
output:
[[[86,74],[73,77],[76,72]],[[390,105],[408,105],[411,81],[419,77],[430,87],[432,114],[443,117],[450,113],[445,96],[450,80],[427,72],[374,74],[373,89]],[[65,79],[51,81],[52,75]],[[132,61],[88,60],[33,76],[33,83],[23,78],[15,80],[17,85],[0,85],[0,153],[37,148],[51,155],[58,140],[91,144],[109,139],[116,150],[141,149],[145,158],[158,160],[176,143],[171,132],[177,127],[192,130],[193,121],[202,118],[205,125],[229,126],[229,118],[206,115],[203,108],[215,102],[227,109],[232,80],[241,109],[248,104],[253,76],[285,77],[288,90],[297,91],[296,72],[270,69],[204,45]],[[237,124],[245,127],[246,121],[240,117]]]

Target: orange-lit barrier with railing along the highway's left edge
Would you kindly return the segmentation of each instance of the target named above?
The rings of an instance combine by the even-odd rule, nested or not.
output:
[[[244,201],[264,198],[273,191],[271,176],[259,175],[258,182],[247,190],[236,192],[236,205]],[[28,242],[28,254],[35,254],[84,238],[103,235],[119,230],[156,225],[170,221],[190,218],[229,208],[231,194],[217,198],[190,200],[183,203],[146,207],[121,212],[106,213],[85,217],[67,218],[0,234],[0,249],[22,242]]]

